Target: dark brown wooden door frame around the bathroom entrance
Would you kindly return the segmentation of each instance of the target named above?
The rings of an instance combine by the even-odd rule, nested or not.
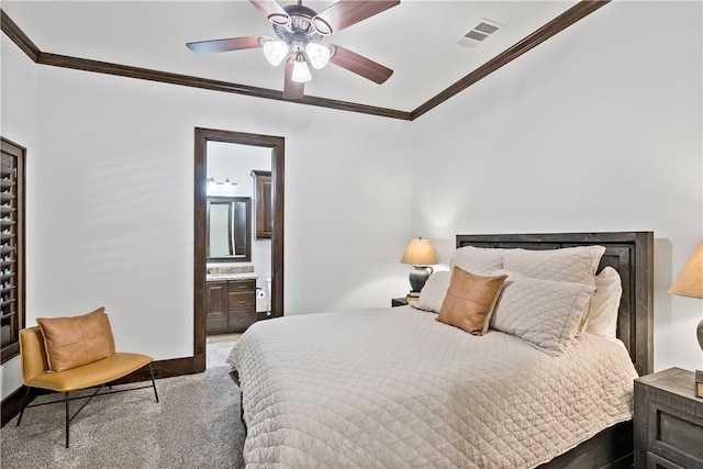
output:
[[[283,137],[196,127],[194,150],[194,253],[193,253],[193,371],[205,370],[205,269],[208,142],[271,148],[271,316],[283,315]]]

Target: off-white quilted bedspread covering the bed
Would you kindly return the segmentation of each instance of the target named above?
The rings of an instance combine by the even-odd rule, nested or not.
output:
[[[625,347],[585,334],[559,357],[412,308],[254,324],[228,361],[247,468],[528,468],[632,417]]]

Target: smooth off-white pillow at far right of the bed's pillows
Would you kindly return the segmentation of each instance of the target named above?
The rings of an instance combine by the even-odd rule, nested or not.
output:
[[[591,298],[585,332],[615,338],[622,295],[623,283],[620,273],[610,266],[605,267],[595,276],[595,293]]]

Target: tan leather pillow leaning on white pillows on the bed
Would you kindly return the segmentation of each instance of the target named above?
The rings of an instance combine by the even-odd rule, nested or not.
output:
[[[506,275],[475,276],[455,267],[437,321],[457,326],[469,334],[486,334],[506,278]]]

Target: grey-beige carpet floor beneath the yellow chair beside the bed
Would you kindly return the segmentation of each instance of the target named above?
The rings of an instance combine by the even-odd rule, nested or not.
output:
[[[71,422],[64,405],[29,409],[0,431],[0,466],[12,468],[243,468],[245,428],[228,367],[156,381],[150,388],[96,397]],[[116,389],[116,388],[115,388]],[[48,394],[34,402],[60,399]],[[82,401],[71,401],[77,410]]]

